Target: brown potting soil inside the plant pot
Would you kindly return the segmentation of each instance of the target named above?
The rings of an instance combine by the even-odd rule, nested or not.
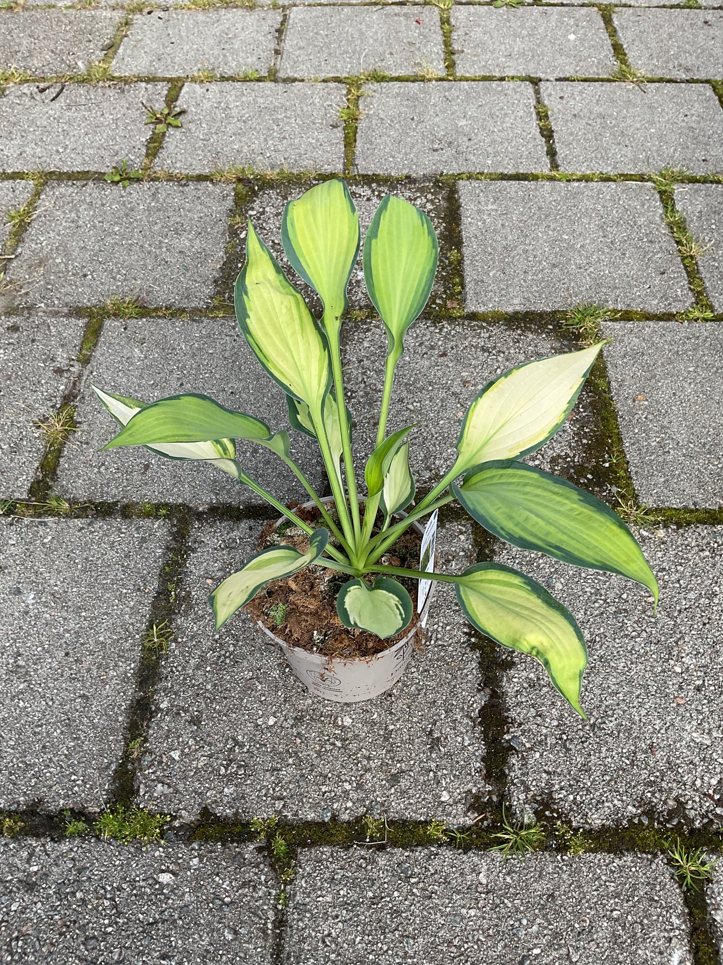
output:
[[[324,525],[318,510],[303,510],[301,507],[293,509],[309,525]],[[293,524],[283,524],[277,530],[276,523],[271,521],[261,531],[258,548],[280,544],[293,546],[299,552],[306,553],[308,536]],[[421,536],[414,529],[409,529],[394,543],[390,552],[385,554],[383,561],[390,566],[418,569],[420,544]],[[394,578],[407,589],[415,609],[409,626],[387,640],[381,640],[365,630],[350,630],[339,620],[336,613],[336,593],[351,577],[326,566],[307,566],[287,579],[270,583],[260,593],[256,593],[244,609],[254,622],[260,620],[291,647],[329,657],[370,657],[392,647],[419,621],[416,612],[417,581],[406,577]],[[364,579],[370,584],[374,582],[373,574],[368,574]]]

